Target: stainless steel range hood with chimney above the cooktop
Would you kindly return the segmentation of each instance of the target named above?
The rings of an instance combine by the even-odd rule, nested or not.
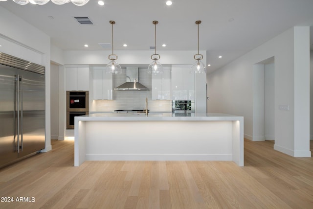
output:
[[[114,90],[141,90],[148,91],[149,89],[139,83],[139,69],[137,67],[126,68],[126,83],[114,88]]]

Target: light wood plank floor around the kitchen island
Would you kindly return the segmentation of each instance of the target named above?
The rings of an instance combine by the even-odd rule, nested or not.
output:
[[[0,197],[14,198],[0,202],[1,209],[313,209],[313,158],[277,152],[273,141],[245,140],[244,167],[189,161],[74,167],[73,141],[53,140],[52,147],[0,169]],[[16,202],[20,197],[34,202]]]

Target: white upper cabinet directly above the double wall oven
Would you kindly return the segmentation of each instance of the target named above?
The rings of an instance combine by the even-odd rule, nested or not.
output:
[[[66,67],[66,90],[89,91],[89,68]]]

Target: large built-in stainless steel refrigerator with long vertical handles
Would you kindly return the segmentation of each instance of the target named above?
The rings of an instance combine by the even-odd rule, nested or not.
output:
[[[0,167],[45,148],[45,67],[0,52]]]

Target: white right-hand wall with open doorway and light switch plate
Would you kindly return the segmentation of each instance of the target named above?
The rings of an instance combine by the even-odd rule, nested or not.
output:
[[[275,57],[274,149],[291,156],[311,157],[309,33],[309,27],[293,27],[208,74],[208,112],[244,116],[245,137],[257,137],[253,133],[253,65]],[[289,105],[289,111],[278,110],[279,105]]]

